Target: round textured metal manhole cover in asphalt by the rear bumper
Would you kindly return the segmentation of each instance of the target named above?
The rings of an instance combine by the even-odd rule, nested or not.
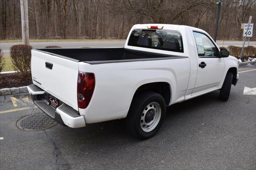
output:
[[[17,122],[17,127],[26,131],[46,130],[56,125],[52,118],[44,113],[38,113],[23,117]]]

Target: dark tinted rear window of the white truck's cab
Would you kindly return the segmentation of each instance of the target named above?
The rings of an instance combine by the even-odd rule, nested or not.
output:
[[[180,32],[171,30],[134,29],[129,38],[128,45],[184,52]]]

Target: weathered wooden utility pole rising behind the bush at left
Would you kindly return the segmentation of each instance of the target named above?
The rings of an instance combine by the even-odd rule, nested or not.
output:
[[[28,0],[20,0],[22,42],[29,45],[28,32]]]

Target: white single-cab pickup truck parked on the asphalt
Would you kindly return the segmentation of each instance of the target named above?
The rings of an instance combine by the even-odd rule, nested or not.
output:
[[[166,106],[214,90],[228,100],[238,59],[203,30],[137,24],[122,48],[33,49],[34,103],[61,125],[79,128],[126,118],[127,130],[150,138]]]

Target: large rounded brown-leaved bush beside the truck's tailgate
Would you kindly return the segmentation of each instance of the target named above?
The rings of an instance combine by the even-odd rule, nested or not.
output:
[[[31,49],[30,45],[24,44],[12,45],[10,47],[10,57],[14,71],[18,71],[24,76],[30,75]]]

